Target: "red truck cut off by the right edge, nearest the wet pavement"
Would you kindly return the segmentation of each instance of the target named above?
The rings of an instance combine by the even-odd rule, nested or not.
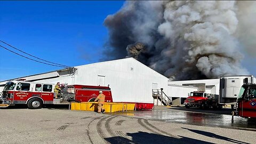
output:
[[[233,111],[233,116],[256,118],[256,84],[247,83],[241,87],[236,105],[236,111]]]

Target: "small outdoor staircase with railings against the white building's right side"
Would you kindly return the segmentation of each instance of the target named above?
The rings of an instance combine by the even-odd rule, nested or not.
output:
[[[170,106],[171,105],[171,99],[167,97],[167,95],[163,92],[163,89],[158,90],[158,89],[153,89],[152,90],[152,97],[154,99],[157,99],[157,106],[158,106],[158,100],[163,103],[164,106]],[[167,99],[167,100],[166,100]]]

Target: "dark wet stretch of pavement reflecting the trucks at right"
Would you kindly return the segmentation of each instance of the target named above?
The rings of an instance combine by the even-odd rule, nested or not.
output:
[[[156,107],[154,110],[125,111],[113,113],[113,115],[141,117],[170,123],[256,131],[256,119],[234,116],[234,123],[231,123],[231,109],[201,110],[197,108],[186,109],[183,107]]]

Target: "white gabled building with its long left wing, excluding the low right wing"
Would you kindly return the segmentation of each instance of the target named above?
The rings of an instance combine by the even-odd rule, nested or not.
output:
[[[68,85],[109,86],[114,102],[141,103],[153,103],[153,86],[155,89],[166,90],[168,82],[167,77],[134,58],[76,66],[74,73],[70,69],[63,69],[16,79],[51,84],[60,82]],[[0,82],[1,92],[6,82]]]

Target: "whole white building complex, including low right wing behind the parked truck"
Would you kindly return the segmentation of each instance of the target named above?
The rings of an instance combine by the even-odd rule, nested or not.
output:
[[[13,80],[17,79],[50,84],[60,82],[68,85],[109,86],[114,102],[155,103],[155,105],[162,105],[162,103],[156,100],[156,97],[152,97],[153,89],[162,88],[165,96],[169,97],[174,105],[181,105],[191,91],[197,91],[198,85],[196,84],[202,86],[204,83],[207,93],[219,93],[219,79],[168,82],[167,77],[134,58],[92,63],[76,66],[74,69],[50,71]],[[0,82],[1,92],[6,82]]]

